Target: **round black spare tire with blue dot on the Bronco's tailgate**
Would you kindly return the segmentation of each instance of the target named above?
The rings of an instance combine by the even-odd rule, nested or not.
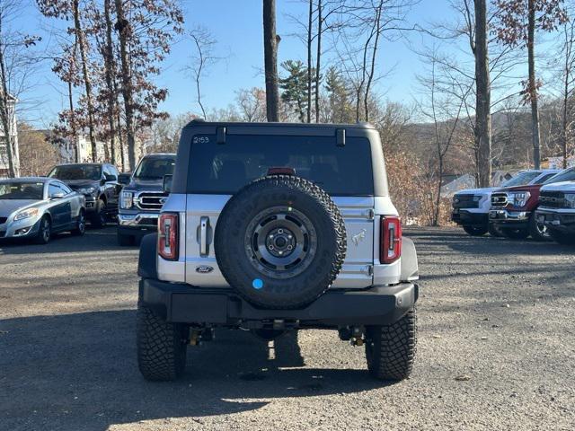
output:
[[[345,224],[329,195],[293,175],[268,175],[222,210],[214,246],[227,283],[254,305],[305,306],[332,285],[346,251]]]

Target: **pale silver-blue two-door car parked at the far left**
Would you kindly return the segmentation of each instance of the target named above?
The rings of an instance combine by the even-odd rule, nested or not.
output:
[[[83,235],[85,198],[49,178],[0,180],[0,238],[49,242],[52,233]]]

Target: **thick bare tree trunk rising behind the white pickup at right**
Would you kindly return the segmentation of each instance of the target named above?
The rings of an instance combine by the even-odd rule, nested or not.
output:
[[[491,184],[491,82],[487,29],[487,1],[475,0],[475,147],[479,187]]]

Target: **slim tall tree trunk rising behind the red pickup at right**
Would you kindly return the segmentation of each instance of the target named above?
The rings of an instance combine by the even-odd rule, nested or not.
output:
[[[537,83],[535,78],[535,0],[528,3],[527,57],[529,63],[528,93],[531,101],[531,133],[533,140],[533,164],[541,167],[541,132],[539,131],[539,108],[537,104]]]

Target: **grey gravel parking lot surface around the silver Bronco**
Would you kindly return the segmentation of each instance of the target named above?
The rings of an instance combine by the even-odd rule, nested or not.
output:
[[[0,244],[0,429],[575,428],[575,249],[412,229],[420,339],[382,384],[330,331],[219,331],[178,383],[137,371],[137,250],[115,229]]]

